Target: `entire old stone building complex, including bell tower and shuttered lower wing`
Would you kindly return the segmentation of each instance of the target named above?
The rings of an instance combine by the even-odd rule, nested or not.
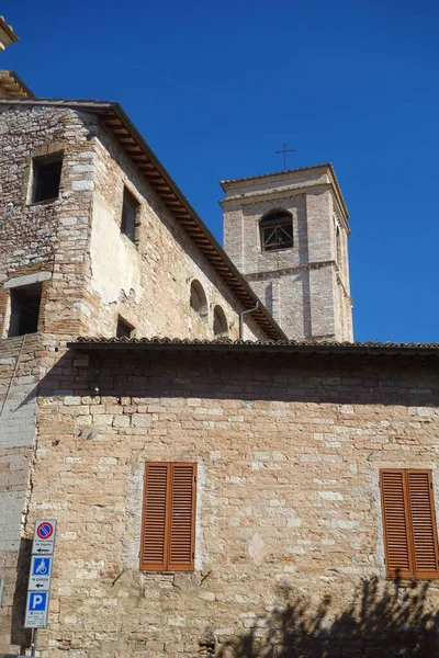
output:
[[[351,342],[333,167],[224,181],[227,256],[117,104],[0,84],[0,655],[40,518],[46,658],[436,655],[439,345]]]

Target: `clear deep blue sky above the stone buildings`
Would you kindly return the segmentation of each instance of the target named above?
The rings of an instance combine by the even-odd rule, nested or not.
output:
[[[331,161],[357,340],[439,341],[434,0],[5,0],[42,98],[119,101],[221,239],[221,179]]]

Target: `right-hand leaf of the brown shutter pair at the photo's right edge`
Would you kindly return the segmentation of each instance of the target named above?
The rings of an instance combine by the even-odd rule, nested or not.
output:
[[[406,477],[415,576],[437,578],[439,555],[431,472],[407,470]]]

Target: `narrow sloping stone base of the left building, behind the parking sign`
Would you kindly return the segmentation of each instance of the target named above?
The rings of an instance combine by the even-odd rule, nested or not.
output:
[[[35,364],[41,349],[37,336],[0,341],[0,578],[4,579],[0,653],[19,649],[24,636],[26,546],[22,537],[31,494],[40,374]]]

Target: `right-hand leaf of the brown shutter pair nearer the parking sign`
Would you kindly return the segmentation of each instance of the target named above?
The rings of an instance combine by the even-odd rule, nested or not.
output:
[[[195,464],[172,464],[169,569],[193,569]]]

